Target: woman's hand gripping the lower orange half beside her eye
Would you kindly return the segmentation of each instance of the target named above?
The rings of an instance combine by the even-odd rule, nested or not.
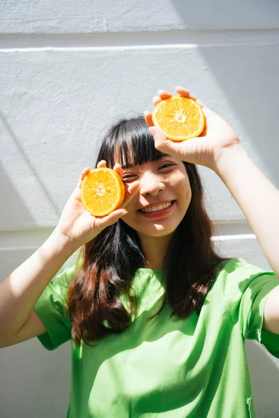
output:
[[[97,167],[106,167],[105,160],[98,162]],[[121,165],[115,164],[114,170],[122,178],[123,170],[121,169]],[[82,180],[89,171],[89,167],[82,171],[77,187],[63,208],[59,223],[55,229],[56,233],[60,233],[63,237],[66,237],[76,249],[86,244],[86,242],[93,240],[103,229],[117,222],[123,215],[126,215],[128,212],[124,208],[133,199],[139,186],[138,181],[130,184],[125,183],[125,197],[121,207],[104,217],[94,217],[84,208],[81,200]]]

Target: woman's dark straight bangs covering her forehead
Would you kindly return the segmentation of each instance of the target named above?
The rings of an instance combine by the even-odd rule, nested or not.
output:
[[[100,160],[105,160],[107,167],[111,169],[117,162],[123,168],[128,168],[147,161],[160,160],[166,155],[156,150],[144,116],[138,116],[122,119],[110,128],[100,147],[96,167]]]

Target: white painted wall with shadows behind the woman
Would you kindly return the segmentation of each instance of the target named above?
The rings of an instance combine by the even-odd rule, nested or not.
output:
[[[279,186],[277,0],[2,0],[1,279],[51,233],[104,130],[188,87]],[[200,167],[222,254],[271,270],[221,180]],[[279,362],[248,341],[257,417],[278,417]],[[0,417],[66,417],[70,343],[0,352]],[[224,417],[225,418],[225,417]]]

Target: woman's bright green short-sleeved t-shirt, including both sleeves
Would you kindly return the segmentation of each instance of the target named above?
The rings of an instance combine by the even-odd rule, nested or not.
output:
[[[64,306],[74,276],[75,266],[57,275],[34,307],[48,350],[71,339]],[[146,321],[160,307],[163,282],[163,270],[140,268],[132,284],[139,309],[129,329],[95,348],[72,341],[68,418],[255,417],[244,342],[255,339],[279,358],[279,335],[262,330],[278,278],[234,258],[223,264],[199,315],[169,318],[165,304]]]

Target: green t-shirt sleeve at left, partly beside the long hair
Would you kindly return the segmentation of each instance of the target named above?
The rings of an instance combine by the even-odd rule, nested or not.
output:
[[[68,286],[76,271],[76,266],[73,265],[57,274],[33,307],[47,330],[45,334],[38,335],[38,339],[47,350],[54,350],[71,339],[71,323],[66,304]]]

